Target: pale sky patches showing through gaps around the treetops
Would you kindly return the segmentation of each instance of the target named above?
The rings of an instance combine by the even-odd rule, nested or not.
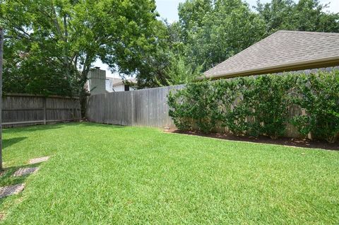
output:
[[[157,11],[160,13],[160,18],[166,18],[169,23],[179,20],[178,6],[180,2],[185,0],[155,0],[157,4]],[[256,6],[256,0],[245,0],[250,6]],[[269,2],[270,0],[261,0],[261,3]],[[321,4],[328,4],[331,2],[328,11],[339,13],[339,0],[320,0]],[[94,67],[100,67],[106,70],[106,75],[109,77],[119,77],[119,74],[112,74],[108,66],[102,64],[99,60],[95,62]]]

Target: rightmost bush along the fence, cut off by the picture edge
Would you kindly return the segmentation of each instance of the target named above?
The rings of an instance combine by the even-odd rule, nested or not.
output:
[[[296,86],[295,103],[306,115],[294,118],[301,134],[333,143],[339,134],[339,71],[301,76]]]

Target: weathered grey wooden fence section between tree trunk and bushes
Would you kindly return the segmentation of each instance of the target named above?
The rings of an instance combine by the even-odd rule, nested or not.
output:
[[[174,127],[168,115],[169,91],[183,86],[113,92],[88,97],[87,119],[112,125]]]

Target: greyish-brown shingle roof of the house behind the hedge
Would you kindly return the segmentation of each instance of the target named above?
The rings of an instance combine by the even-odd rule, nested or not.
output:
[[[208,78],[339,65],[339,33],[280,30],[206,71]]]

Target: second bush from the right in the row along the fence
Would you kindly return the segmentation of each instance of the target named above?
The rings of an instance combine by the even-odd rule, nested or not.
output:
[[[249,128],[252,135],[267,135],[277,139],[285,135],[293,76],[267,75],[249,79],[244,91],[246,108],[249,110]]]

